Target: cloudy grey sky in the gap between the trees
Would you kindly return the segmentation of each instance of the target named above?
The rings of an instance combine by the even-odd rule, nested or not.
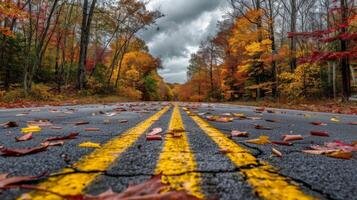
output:
[[[184,83],[190,55],[201,41],[215,35],[217,21],[227,12],[227,0],[151,0],[148,9],[158,9],[165,16],[140,37],[150,53],[161,58],[159,74],[165,81]]]

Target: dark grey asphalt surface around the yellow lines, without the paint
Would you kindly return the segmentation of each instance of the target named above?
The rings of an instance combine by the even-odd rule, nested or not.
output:
[[[352,158],[348,160],[302,152],[312,145],[323,146],[324,143],[335,140],[347,144],[357,141],[357,126],[350,124],[357,122],[357,116],[283,109],[257,110],[255,107],[226,104],[175,103],[175,105],[180,111],[184,127],[182,131],[185,131],[187,136],[189,150],[194,160],[194,172],[199,174],[199,179],[197,179],[199,189],[205,199],[279,199],[279,195],[264,194],[264,187],[269,187],[264,185],[266,180],[260,180],[261,185],[252,182],[255,180],[252,177],[259,175],[252,175],[249,172],[259,167],[261,163],[266,163],[267,166],[276,169],[276,171],[269,172],[269,176],[275,177],[276,175],[279,180],[286,180],[289,185],[298,188],[301,193],[312,199],[357,200],[356,152],[353,152]],[[143,183],[156,174],[155,169],[163,153],[165,141],[169,139],[167,137],[170,132],[170,121],[177,120],[172,117],[175,109],[172,103],[137,102],[0,110],[0,124],[7,121],[15,121],[19,124],[19,127],[0,128],[0,146],[6,148],[34,147],[49,137],[79,132],[76,139],[65,140],[63,145],[49,147],[43,152],[18,157],[1,155],[0,174],[36,176],[47,173],[47,176],[39,180],[26,183],[39,185],[63,169],[73,169],[75,163],[81,162],[81,158],[98,150],[98,148],[81,148],[79,147],[81,143],[93,142],[104,145],[115,138],[120,138],[126,131],[138,126],[168,106],[167,112],[152,121],[147,130],[142,130],[143,134],[128,145],[123,153],[116,155],[117,158],[105,171],[85,172],[99,174],[88,183],[83,193],[98,195],[109,188],[120,193],[129,185]],[[207,120],[212,115],[233,116],[233,114],[244,115],[248,119],[234,118],[232,122],[227,123]],[[234,145],[246,149],[258,164],[238,166],[232,160],[232,156],[236,154],[222,153],[220,144],[199,126],[192,118],[193,115],[199,116],[224,134],[225,140],[228,139]],[[41,119],[49,120],[53,124],[52,128],[51,126],[42,127],[40,132],[33,133],[33,139],[16,142],[15,137],[24,135],[21,129],[27,127],[29,121]],[[88,124],[75,125],[80,121],[86,121]],[[316,126],[311,122],[322,122],[326,125]],[[256,125],[268,127],[271,130],[256,129]],[[61,129],[54,129],[53,126],[61,127]],[[156,127],[163,129],[162,140],[148,141],[146,134]],[[86,131],[86,128],[99,130]],[[249,136],[246,138],[231,137],[232,130],[246,131]],[[311,136],[311,131],[327,131],[329,137]],[[294,141],[292,146],[245,142],[259,136],[269,136],[271,141],[281,141],[283,135],[286,134],[299,134],[304,139]],[[283,156],[274,156],[272,148],[280,151]],[[248,170],[247,173],[245,170]],[[84,172],[81,173],[84,174]],[[265,179],[270,180],[269,176]],[[277,179],[274,177],[271,181]],[[0,199],[17,199],[30,192],[32,191],[20,188],[0,190]],[[277,193],[279,192],[284,192],[284,189],[277,188]],[[289,197],[307,199],[306,196],[298,194],[300,193],[291,194]]]

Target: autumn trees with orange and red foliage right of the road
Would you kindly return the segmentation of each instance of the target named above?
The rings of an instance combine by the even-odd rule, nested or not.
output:
[[[353,99],[354,0],[229,0],[216,35],[191,55],[182,101]]]

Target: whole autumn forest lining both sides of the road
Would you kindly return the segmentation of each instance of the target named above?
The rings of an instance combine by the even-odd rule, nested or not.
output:
[[[166,83],[138,33],[165,17],[141,0],[1,0],[0,98],[354,99],[354,0],[225,0],[187,82]],[[159,27],[158,27],[159,30]]]

